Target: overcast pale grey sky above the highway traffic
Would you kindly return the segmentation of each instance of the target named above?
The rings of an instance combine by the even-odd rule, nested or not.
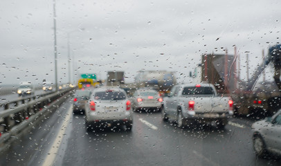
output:
[[[233,54],[234,45],[242,66],[248,52],[253,71],[262,49],[280,42],[280,6],[280,0],[57,0],[58,78],[69,80],[68,39],[71,81],[79,77],[74,66],[76,74],[102,79],[125,71],[126,82],[143,69],[176,71],[187,82],[203,53]],[[1,84],[54,82],[53,1],[3,0],[0,12]]]

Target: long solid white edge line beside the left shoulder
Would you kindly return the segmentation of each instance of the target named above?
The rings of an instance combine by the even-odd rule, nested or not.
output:
[[[55,138],[55,141],[53,142],[50,151],[48,151],[48,156],[46,157],[42,166],[54,164],[55,156],[57,156],[57,151],[60,148],[60,144],[62,143],[62,138],[64,138],[64,133],[66,132],[66,127],[69,125],[69,120],[71,119],[72,116],[72,110],[73,110],[73,106],[71,106],[69,108],[69,111],[67,111],[64,122],[60,127],[60,131],[59,133],[57,133],[57,137]]]

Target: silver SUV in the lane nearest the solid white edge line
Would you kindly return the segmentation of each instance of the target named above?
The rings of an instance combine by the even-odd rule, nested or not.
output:
[[[131,130],[132,107],[127,94],[117,87],[94,89],[85,103],[87,130],[103,127],[124,127]]]

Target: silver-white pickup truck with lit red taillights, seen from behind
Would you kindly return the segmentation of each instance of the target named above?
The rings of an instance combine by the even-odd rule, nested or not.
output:
[[[163,120],[176,121],[179,127],[215,121],[224,129],[232,115],[233,100],[218,96],[212,84],[178,84],[163,100]]]

